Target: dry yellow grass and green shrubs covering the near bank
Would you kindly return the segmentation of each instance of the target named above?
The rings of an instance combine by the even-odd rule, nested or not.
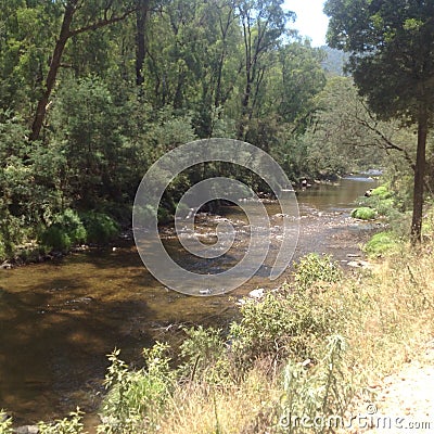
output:
[[[163,343],[139,370],[115,350],[98,433],[335,432],[348,408],[375,401],[370,384],[432,339],[433,248],[345,276],[331,257],[308,255],[291,284],[246,301],[229,332],[187,329],[177,368]],[[79,417],[40,426],[81,433]]]

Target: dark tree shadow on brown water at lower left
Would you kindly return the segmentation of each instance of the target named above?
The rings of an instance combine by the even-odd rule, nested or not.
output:
[[[152,342],[136,324],[153,318],[143,299],[104,301],[81,295],[76,279],[54,279],[49,291],[2,291],[0,301],[0,403],[17,409],[17,420],[34,421],[74,409],[104,378],[105,355],[115,346],[132,358]],[[88,403],[89,396],[86,396]]]

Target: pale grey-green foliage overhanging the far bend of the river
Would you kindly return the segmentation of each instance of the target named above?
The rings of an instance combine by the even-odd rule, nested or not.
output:
[[[310,173],[321,178],[382,164],[387,143],[379,138],[388,137],[392,128],[372,119],[350,78],[330,78],[316,105],[304,137],[304,164]]]

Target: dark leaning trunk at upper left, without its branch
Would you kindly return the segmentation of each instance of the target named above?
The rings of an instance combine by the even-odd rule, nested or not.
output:
[[[67,2],[65,7],[61,33],[59,35],[58,41],[55,42],[53,56],[50,62],[50,69],[47,75],[46,88],[43,90],[41,99],[38,102],[34,123],[31,125],[30,141],[38,140],[40,131],[42,129],[43,119],[46,118],[47,114],[48,101],[50,99],[51,91],[53,90],[55,84],[55,77],[58,76],[58,72],[61,66],[62,54],[71,36],[71,23],[73,22],[75,13],[75,3],[76,2],[74,1]]]

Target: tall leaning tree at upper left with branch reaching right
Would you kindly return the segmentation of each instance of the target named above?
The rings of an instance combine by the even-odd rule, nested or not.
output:
[[[118,4],[116,4],[118,3]],[[37,140],[42,129],[43,119],[46,118],[47,105],[54,88],[59,68],[61,67],[62,54],[65,50],[67,41],[85,31],[95,30],[125,20],[136,10],[136,5],[123,5],[123,2],[114,2],[113,0],[102,0],[98,2],[89,2],[86,0],[67,0],[62,20],[62,26],[58,40],[51,56],[50,68],[47,74],[44,89],[38,101],[34,123],[31,125],[30,140]],[[77,13],[81,12],[81,16],[77,18]],[[82,24],[74,27],[74,18],[81,20]]]

